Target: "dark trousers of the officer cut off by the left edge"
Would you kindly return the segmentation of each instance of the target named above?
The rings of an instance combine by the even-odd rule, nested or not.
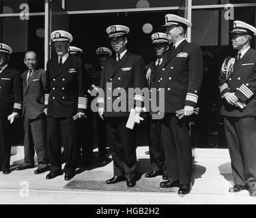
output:
[[[0,170],[10,168],[12,144],[10,140],[11,124],[6,116],[0,116]]]

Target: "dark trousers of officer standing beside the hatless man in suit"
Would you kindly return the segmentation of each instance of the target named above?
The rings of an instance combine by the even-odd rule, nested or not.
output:
[[[66,165],[64,172],[74,174],[76,170],[77,140],[79,129],[72,118],[47,116],[47,148],[51,172],[61,170],[61,145],[63,145]]]

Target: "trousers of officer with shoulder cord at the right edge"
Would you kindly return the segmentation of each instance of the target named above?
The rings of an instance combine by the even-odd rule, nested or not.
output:
[[[225,116],[224,122],[233,180],[251,187],[256,181],[256,118]]]

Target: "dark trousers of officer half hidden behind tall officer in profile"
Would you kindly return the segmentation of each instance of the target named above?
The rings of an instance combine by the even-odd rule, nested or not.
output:
[[[149,123],[150,129],[148,136],[152,170],[165,172],[165,153],[162,146],[160,120],[154,120],[150,117]]]

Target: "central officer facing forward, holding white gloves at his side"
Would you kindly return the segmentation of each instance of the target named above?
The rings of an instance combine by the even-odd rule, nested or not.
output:
[[[146,87],[145,63],[141,56],[134,55],[126,49],[128,42],[126,34],[130,29],[123,25],[113,25],[106,29],[111,39],[111,47],[115,50],[115,57],[106,61],[100,81],[100,89],[105,95],[98,97],[99,114],[106,121],[106,134],[108,144],[113,157],[114,176],[106,181],[107,184],[126,180],[128,187],[134,187],[137,179],[137,156],[134,129],[128,129],[126,122],[130,114],[128,108],[128,89]],[[107,87],[107,83],[112,85]],[[113,102],[118,100],[117,96],[108,96],[108,91],[124,90],[126,93],[126,108],[123,111],[115,111]],[[121,98],[121,97],[120,97]],[[144,96],[135,93],[132,96],[132,108],[139,114],[143,107]],[[133,102],[134,101],[134,102]],[[134,103],[134,105],[133,105]],[[108,108],[112,108],[109,111]]]

